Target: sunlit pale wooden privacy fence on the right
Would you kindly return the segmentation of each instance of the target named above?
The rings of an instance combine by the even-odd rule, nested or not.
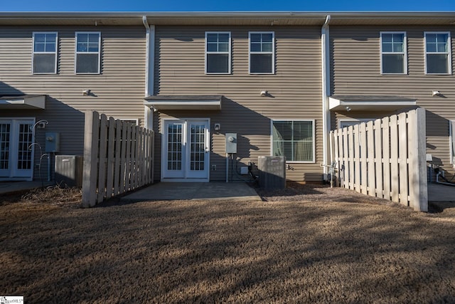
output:
[[[341,187],[428,210],[425,110],[331,131]]]

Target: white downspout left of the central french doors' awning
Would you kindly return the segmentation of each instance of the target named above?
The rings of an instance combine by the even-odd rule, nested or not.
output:
[[[154,70],[155,70],[155,26],[149,26],[146,16],[142,16],[142,23],[146,28],[146,53],[145,53],[145,97],[154,95]],[[144,105],[144,127],[153,130],[153,109]]]

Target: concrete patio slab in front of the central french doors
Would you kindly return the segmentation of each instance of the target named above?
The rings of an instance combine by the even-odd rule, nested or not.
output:
[[[261,201],[255,189],[245,183],[160,182],[122,197],[122,201],[166,200]]]

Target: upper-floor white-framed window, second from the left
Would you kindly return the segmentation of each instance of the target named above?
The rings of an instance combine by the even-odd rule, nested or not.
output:
[[[75,73],[100,74],[101,33],[75,33]]]

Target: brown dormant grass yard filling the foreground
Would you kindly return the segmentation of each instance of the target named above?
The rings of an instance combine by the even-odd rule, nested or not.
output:
[[[1,295],[26,303],[455,303],[455,205],[344,189],[262,202],[0,199]]]

